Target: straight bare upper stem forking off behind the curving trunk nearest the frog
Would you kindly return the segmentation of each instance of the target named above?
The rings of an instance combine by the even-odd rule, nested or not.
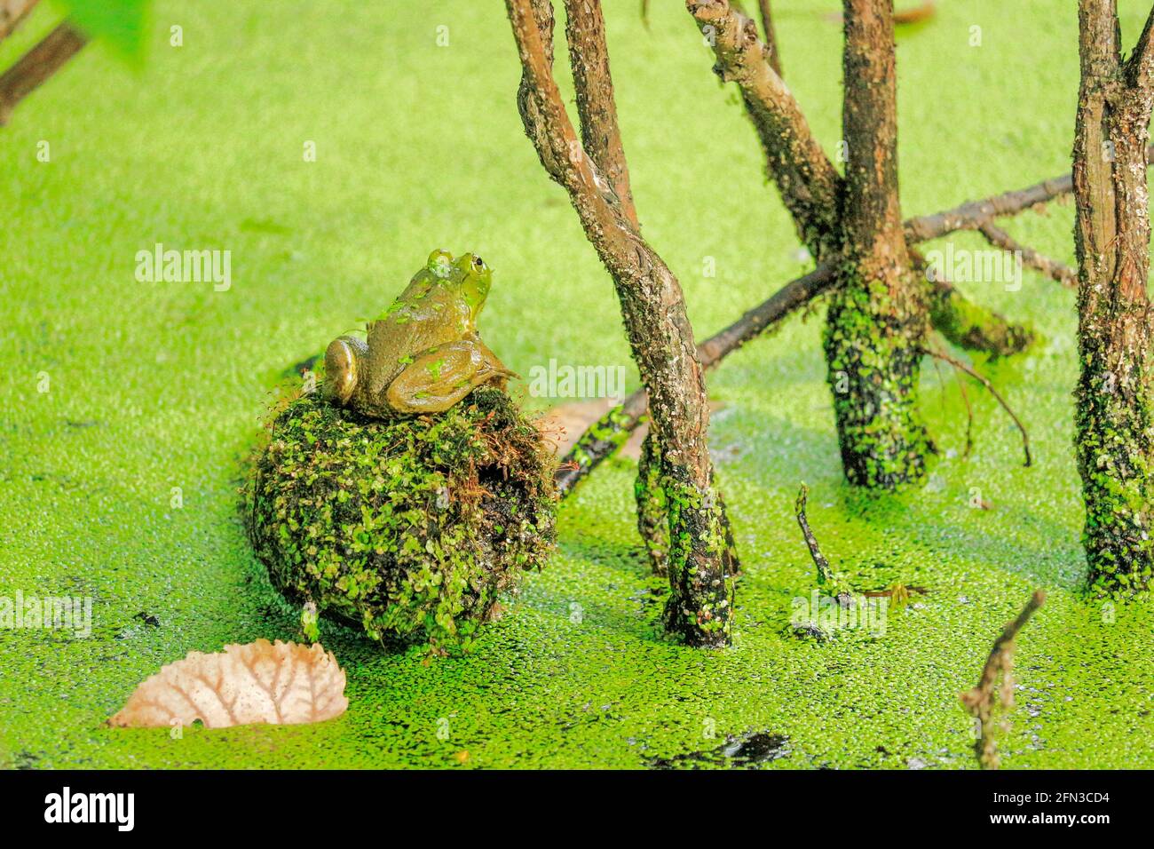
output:
[[[625,163],[613,98],[601,5],[589,0],[565,0],[565,38],[577,88],[577,113],[585,152],[609,180],[621,211],[637,228],[637,210],[629,188],[629,165]]]

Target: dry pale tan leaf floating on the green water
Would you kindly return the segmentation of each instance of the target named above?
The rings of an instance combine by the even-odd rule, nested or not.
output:
[[[349,707],[345,671],[320,643],[228,645],[188,656],[145,680],[108,720],[120,728],[227,728],[268,722],[292,725],[340,716]]]

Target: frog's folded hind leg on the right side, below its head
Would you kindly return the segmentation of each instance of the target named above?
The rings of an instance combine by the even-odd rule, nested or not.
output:
[[[443,412],[481,383],[517,377],[480,340],[459,340],[419,355],[385,390],[402,414]]]

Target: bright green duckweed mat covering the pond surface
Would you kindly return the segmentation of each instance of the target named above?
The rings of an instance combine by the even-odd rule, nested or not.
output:
[[[299,610],[245,536],[246,459],[284,371],[376,314],[434,247],[493,267],[484,333],[510,368],[620,364],[637,385],[612,284],[522,133],[503,8],[425,6],[160,2],[138,68],[91,47],[0,131],[0,595],[92,603],[90,633],[0,628],[0,766],[972,768],[958,694],[1042,588],[1018,638],[1003,765],[1154,767],[1154,612],[1080,593],[1073,295],[1031,271],[1020,289],[960,284],[1042,336],[979,364],[1029,429],[1031,468],[976,385],[966,456],[956,378],[927,366],[929,483],[853,493],[819,315],[711,373],[711,448],[742,561],[729,649],[661,636],[636,463],[620,457],[562,504],[556,552],[467,656],[426,662],[322,621],[347,673],[336,720],[177,738],[104,727],[190,650],[299,639]],[[638,3],[607,6],[637,207],[704,338],[808,268],[681,5],[651,3],[647,25]],[[1069,167],[1077,21],[1042,7],[943,2],[899,35],[907,215]],[[837,9],[774,3],[786,77],[827,149]],[[1139,13],[1127,8],[1127,33]],[[1069,206],[1007,229],[1072,262]],[[137,274],[138,252],[168,248],[228,251],[227,285]],[[926,593],[877,627],[799,638],[790,617],[816,586],[793,513],[802,481],[853,586]]]

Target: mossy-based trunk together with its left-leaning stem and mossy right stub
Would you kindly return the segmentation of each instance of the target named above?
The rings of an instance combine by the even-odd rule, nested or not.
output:
[[[931,449],[917,414],[921,348],[930,325],[954,344],[1007,355],[1028,330],[927,281],[907,250],[898,203],[892,0],[845,3],[845,156],[837,172],[780,74],[773,51],[729,0],[687,0],[717,58],[741,88],[770,178],[797,234],[838,278],[825,334],[842,467],[852,484],[896,489],[922,478]],[[911,241],[941,234],[914,233]]]

